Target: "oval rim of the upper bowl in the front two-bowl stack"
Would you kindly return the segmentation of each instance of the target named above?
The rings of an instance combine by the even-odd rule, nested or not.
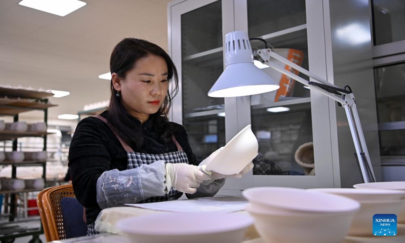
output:
[[[341,200],[343,207],[340,209],[335,209],[333,211],[327,210],[327,209],[322,209],[322,208],[312,208],[308,210],[306,207],[300,207],[299,205],[288,205],[288,204],[280,204],[280,203],[273,203],[269,204],[268,201],[264,201],[263,199],[260,198],[252,198],[248,194],[254,191],[258,190],[274,190],[274,191],[291,191],[291,192],[304,192],[304,193],[309,193],[309,194],[317,194],[322,197],[327,197],[330,200]],[[347,211],[355,211],[360,207],[360,203],[352,198],[345,197],[342,195],[337,195],[337,194],[331,194],[331,193],[322,193],[320,191],[309,191],[306,189],[301,189],[301,188],[291,188],[291,187],[251,187],[248,188],[244,191],[242,191],[242,195],[248,199],[248,201],[253,201],[254,203],[262,204],[264,206],[269,206],[269,207],[276,207],[276,208],[282,208],[282,209],[287,209],[287,210],[294,210],[294,211],[301,211],[301,212],[313,212],[313,213],[338,213],[338,212],[347,212]],[[253,200],[252,200],[253,199]]]

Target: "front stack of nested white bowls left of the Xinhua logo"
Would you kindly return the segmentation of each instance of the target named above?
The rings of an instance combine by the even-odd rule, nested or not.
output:
[[[341,242],[360,209],[353,199],[297,188],[255,187],[242,194],[266,242]]]

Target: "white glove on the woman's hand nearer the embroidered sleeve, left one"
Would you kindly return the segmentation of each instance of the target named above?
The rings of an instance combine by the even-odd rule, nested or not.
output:
[[[211,177],[200,171],[198,167],[184,163],[166,164],[166,188],[193,194],[201,182],[211,180]]]

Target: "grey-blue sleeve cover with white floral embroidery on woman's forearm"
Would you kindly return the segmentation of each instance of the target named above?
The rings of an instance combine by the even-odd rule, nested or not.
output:
[[[152,195],[164,196],[165,174],[163,160],[125,171],[105,171],[97,180],[97,203],[105,209],[140,203]]]

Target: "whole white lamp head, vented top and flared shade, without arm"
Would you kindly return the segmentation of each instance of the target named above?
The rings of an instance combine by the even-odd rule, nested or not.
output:
[[[280,88],[273,79],[253,64],[248,33],[233,31],[225,35],[226,68],[208,92],[210,97],[256,95]]]

